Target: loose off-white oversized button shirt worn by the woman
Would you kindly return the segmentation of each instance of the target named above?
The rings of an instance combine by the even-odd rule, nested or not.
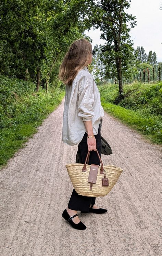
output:
[[[97,135],[102,116],[104,110],[100,92],[93,76],[84,66],[72,85],[66,85],[62,141],[68,145],[78,144],[87,132],[84,121],[92,121],[94,135]]]

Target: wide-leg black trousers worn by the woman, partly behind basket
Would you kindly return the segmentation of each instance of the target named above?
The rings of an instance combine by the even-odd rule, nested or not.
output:
[[[99,125],[98,134],[95,135],[96,138],[96,148],[101,157],[101,127]],[[82,141],[78,144],[78,151],[76,154],[76,162],[75,163],[85,163],[86,156],[88,153],[88,145],[87,145],[87,133],[85,132]],[[89,163],[88,164],[97,164],[100,165],[100,160],[98,158],[96,151],[90,151]],[[78,195],[78,193],[73,189],[70,201],[68,203],[68,208],[76,211],[88,212],[90,204],[95,204],[96,197],[91,196],[82,196]]]

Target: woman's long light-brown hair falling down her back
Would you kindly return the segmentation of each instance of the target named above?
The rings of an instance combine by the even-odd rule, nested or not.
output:
[[[64,84],[72,85],[79,70],[87,65],[91,52],[92,45],[85,38],[78,39],[71,44],[59,70],[59,78]]]

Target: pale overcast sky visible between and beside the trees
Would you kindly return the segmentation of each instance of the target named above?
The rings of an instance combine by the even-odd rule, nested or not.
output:
[[[162,10],[160,10],[162,0],[132,0],[128,13],[136,16],[137,25],[130,30],[130,35],[134,42],[134,48],[143,46],[145,52],[149,51],[157,54],[157,60],[162,61]],[[92,29],[86,32],[94,44],[104,45],[105,41],[100,39],[101,31]]]

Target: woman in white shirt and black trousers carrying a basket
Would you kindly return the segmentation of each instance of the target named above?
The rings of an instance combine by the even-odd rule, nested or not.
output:
[[[66,85],[62,141],[67,145],[78,144],[77,154],[85,163],[88,151],[89,163],[100,165],[96,148],[101,156],[101,121],[104,115],[97,85],[88,71],[92,62],[92,45],[84,38],[72,43],[60,66],[59,78]],[[77,159],[77,158],[76,158]],[[78,195],[73,189],[67,208],[62,213],[72,227],[86,229],[80,221],[81,213],[104,213],[107,209],[95,205],[96,197]]]

